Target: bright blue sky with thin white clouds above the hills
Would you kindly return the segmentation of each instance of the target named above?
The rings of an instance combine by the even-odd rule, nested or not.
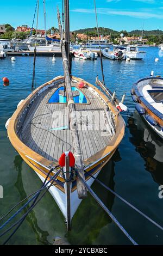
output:
[[[0,24],[32,26],[36,0],[0,0]],[[58,27],[57,6],[62,0],[46,0],[47,29]],[[98,25],[116,31],[163,30],[163,0],[96,0]],[[34,27],[36,26],[36,22]],[[70,0],[70,29],[96,27],[94,0]],[[44,29],[43,0],[40,0],[39,28]]]

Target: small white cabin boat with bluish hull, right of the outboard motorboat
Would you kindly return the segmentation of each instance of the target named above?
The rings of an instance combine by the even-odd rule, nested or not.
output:
[[[146,57],[146,52],[139,51],[136,46],[127,46],[125,50],[122,50],[123,53],[126,53],[127,58],[141,60]]]

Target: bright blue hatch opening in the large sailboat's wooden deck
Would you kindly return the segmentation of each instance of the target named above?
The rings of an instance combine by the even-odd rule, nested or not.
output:
[[[75,103],[87,103],[85,95],[76,87],[72,87],[73,100]],[[48,103],[66,103],[66,92],[64,87],[58,88],[51,96]]]

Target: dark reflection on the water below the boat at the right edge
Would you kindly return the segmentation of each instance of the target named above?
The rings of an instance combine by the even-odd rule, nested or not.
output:
[[[146,170],[152,174],[156,183],[163,184],[163,142],[136,112],[128,118],[127,127],[131,134],[130,142],[145,160]]]

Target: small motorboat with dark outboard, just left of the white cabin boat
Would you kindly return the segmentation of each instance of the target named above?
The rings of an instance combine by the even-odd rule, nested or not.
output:
[[[102,51],[102,53],[103,53],[103,56],[108,59],[112,59],[112,60],[125,60],[126,59],[126,53],[123,52],[122,47],[115,48],[113,51],[109,51],[109,49],[106,48]]]

